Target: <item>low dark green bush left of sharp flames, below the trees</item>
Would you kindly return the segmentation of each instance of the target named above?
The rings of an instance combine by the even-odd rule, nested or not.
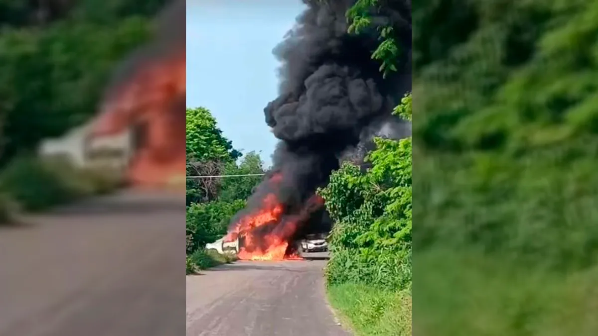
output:
[[[212,201],[195,203],[187,207],[187,253],[203,249],[227,233],[228,223],[245,200],[232,202]]]

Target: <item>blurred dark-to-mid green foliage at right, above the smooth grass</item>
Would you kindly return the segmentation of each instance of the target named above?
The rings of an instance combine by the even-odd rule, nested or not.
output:
[[[587,267],[598,261],[598,5],[502,4],[414,8],[418,247]],[[444,39],[460,16],[472,19]]]

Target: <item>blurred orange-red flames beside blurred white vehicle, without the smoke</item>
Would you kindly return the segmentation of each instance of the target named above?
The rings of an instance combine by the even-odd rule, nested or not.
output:
[[[145,124],[145,139],[127,172],[133,186],[185,185],[184,51],[157,59],[127,78],[94,124],[92,137],[117,135]]]

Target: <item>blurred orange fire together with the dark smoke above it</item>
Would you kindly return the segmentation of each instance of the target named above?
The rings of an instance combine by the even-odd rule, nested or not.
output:
[[[158,15],[155,38],[133,51],[114,72],[90,137],[132,129],[135,154],[127,182],[167,187],[185,176],[185,2]]]

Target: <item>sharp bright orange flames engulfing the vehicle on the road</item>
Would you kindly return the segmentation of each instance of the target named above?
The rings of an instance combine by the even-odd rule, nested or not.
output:
[[[270,182],[279,182],[282,175],[274,175]],[[240,237],[243,242],[237,257],[242,260],[281,261],[303,259],[295,251],[290,240],[293,239],[299,225],[307,219],[316,207],[322,205],[322,198],[311,197],[301,213],[284,215],[285,207],[274,194],[268,194],[260,209],[243,216],[225,237],[233,241]]]

